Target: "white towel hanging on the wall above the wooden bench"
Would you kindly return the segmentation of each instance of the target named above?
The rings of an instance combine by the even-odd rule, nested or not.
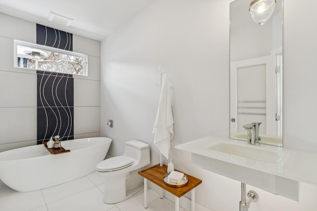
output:
[[[154,145],[159,148],[160,153],[168,159],[169,142],[174,135],[173,114],[168,93],[167,74],[162,74],[162,88],[159,97],[159,108],[155,120],[153,133]]]

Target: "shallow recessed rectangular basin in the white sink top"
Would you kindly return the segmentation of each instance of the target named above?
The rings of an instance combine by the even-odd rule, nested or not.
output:
[[[275,152],[265,149],[257,149],[257,146],[240,146],[231,143],[219,143],[209,147],[209,149],[226,153],[230,155],[235,155],[243,158],[253,159],[256,161],[261,161],[265,163],[277,164],[283,158],[282,152]]]

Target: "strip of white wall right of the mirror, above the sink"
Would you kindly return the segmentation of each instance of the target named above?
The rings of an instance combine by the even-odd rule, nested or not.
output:
[[[284,2],[283,142],[317,151],[317,1],[306,3],[301,7],[297,0]]]

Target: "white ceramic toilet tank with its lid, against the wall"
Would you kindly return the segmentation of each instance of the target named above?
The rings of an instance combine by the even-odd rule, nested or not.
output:
[[[150,164],[150,146],[141,141],[125,142],[124,156],[132,158],[138,165],[146,166]]]

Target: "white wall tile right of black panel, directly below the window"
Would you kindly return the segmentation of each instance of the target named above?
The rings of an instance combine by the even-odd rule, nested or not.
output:
[[[100,82],[74,79],[74,106],[100,106]]]

